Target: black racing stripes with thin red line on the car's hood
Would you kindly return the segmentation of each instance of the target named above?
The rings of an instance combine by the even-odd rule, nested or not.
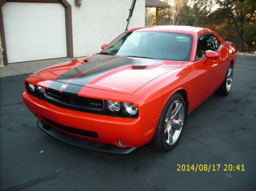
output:
[[[59,76],[50,84],[49,88],[60,90],[60,87],[63,85],[63,83],[68,83],[68,86],[61,92],[78,94],[83,86],[113,69],[124,65],[148,65],[158,62],[156,60],[150,59],[134,59],[130,57],[106,55],[93,56],[90,57],[89,60],[89,63],[71,69],[67,71],[67,73]]]

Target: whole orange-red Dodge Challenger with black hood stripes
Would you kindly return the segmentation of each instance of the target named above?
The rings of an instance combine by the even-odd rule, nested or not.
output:
[[[32,74],[23,100],[47,134],[115,154],[173,149],[187,115],[229,93],[237,59],[216,32],[186,26],[131,29],[101,49]]]

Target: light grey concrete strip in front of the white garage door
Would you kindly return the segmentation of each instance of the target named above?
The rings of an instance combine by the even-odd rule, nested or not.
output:
[[[58,64],[61,62],[73,60],[76,58],[55,58],[49,60],[36,60],[30,62],[19,62],[8,64],[7,66],[0,67],[0,78],[7,76],[16,76],[22,74],[34,73],[35,71]]]

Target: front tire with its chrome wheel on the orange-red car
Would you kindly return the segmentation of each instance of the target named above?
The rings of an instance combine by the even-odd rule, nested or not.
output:
[[[172,150],[180,140],[185,121],[185,101],[180,93],[174,93],[165,104],[161,113],[158,126],[152,140],[153,147],[162,151]]]

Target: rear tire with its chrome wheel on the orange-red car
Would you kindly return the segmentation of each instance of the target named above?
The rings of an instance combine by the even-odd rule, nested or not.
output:
[[[225,79],[224,79],[221,87],[217,91],[218,94],[220,94],[222,96],[228,95],[231,85],[232,85],[232,78],[233,78],[233,67],[232,67],[232,64],[230,63],[227,68],[227,73],[226,73]]]

